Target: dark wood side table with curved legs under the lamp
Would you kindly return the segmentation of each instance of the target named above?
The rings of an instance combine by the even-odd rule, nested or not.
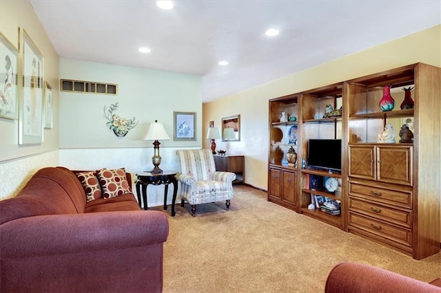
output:
[[[168,185],[173,184],[173,199],[172,199],[172,217],[174,217],[174,204],[176,202],[176,194],[178,193],[178,180],[176,178],[176,172],[163,171],[162,173],[140,172],[136,174],[136,194],[138,195],[139,206],[141,206],[141,195],[144,203],[144,210],[147,210],[147,186],[153,185],[165,185],[164,192],[164,210],[167,210],[167,192]],[[142,193],[141,193],[141,186]],[[142,206],[141,206],[142,207]]]

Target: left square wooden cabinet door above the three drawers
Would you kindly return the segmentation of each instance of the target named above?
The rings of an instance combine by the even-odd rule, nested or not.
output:
[[[349,146],[349,176],[376,180],[374,146]]]

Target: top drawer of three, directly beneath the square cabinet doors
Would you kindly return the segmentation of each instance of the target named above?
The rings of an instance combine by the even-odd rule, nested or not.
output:
[[[366,199],[375,200],[384,204],[393,204],[403,208],[412,208],[411,191],[390,191],[389,189],[377,188],[349,182],[349,195],[356,195]]]

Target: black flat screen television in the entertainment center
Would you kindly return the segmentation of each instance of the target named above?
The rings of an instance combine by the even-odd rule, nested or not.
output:
[[[342,140],[309,140],[308,166],[341,171]]]

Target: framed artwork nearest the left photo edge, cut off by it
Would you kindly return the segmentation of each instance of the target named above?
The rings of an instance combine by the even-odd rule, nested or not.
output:
[[[0,32],[0,117],[19,118],[19,50]]]

